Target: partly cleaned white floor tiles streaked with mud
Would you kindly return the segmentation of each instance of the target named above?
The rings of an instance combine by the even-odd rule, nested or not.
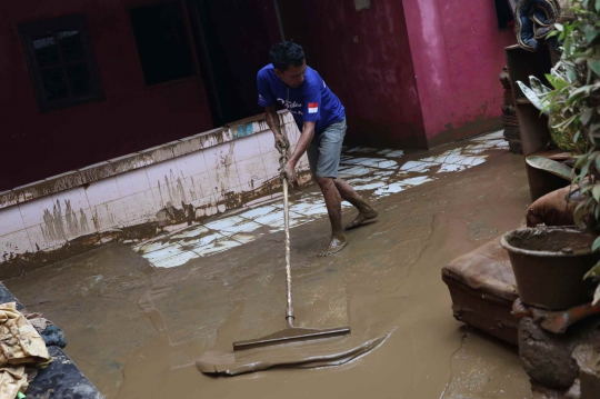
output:
[[[436,180],[436,174],[460,172],[486,162],[484,151],[506,150],[508,142],[502,132],[468,141],[463,148],[448,150],[439,156],[402,162],[402,150],[372,148],[346,149],[340,162],[340,177],[367,197],[383,198]],[[372,154],[357,157],[354,153]],[[433,173],[432,173],[433,172]],[[419,176],[420,174],[420,176]],[[210,257],[257,240],[266,233],[283,230],[281,196],[257,203],[252,209],[234,216],[197,225],[170,235],[133,245],[132,248],[159,268],[182,266],[191,259]],[[350,207],[348,202],[343,208]],[[290,201],[290,227],[308,223],[327,216],[320,193],[309,192]]]

